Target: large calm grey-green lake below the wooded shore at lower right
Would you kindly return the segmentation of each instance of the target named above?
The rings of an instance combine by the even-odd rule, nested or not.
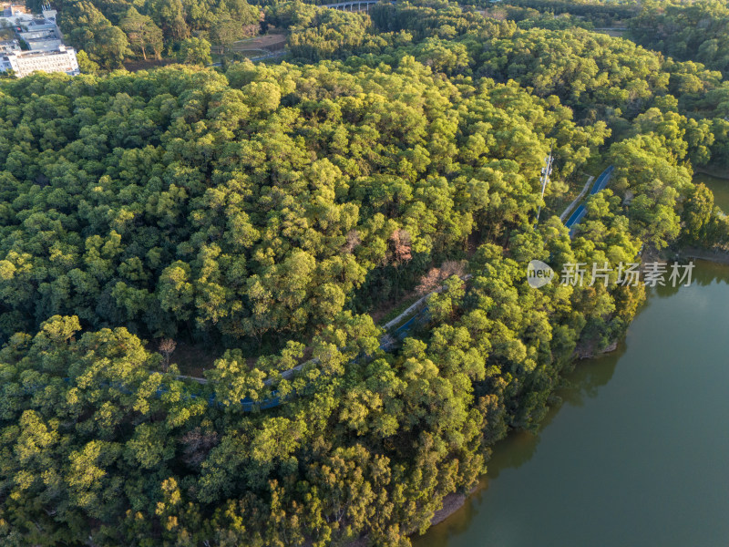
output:
[[[727,319],[727,266],[653,290],[618,351],[578,363],[539,434],[499,443],[416,547],[726,547]]]

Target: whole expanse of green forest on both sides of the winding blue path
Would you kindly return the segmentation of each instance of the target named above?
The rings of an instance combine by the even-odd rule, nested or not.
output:
[[[723,68],[532,4],[282,3],[280,64],[0,82],[0,542],[405,547],[624,333],[644,289],[619,264],[727,243],[692,182],[729,163]],[[253,14],[153,5],[63,13],[142,56]],[[532,259],[613,283],[536,290]],[[385,351],[371,314],[418,285],[442,290]],[[226,350],[207,383],[150,351],[169,338]]]

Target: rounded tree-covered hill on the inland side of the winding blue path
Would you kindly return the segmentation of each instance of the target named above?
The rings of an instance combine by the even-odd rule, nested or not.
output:
[[[5,335],[69,314],[155,336],[306,334],[375,268],[408,268],[396,234],[421,269],[477,226],[498,240],[529,222],[550,145],[566,178],[608,134],[412,57],[24,79],[3,99]]]

